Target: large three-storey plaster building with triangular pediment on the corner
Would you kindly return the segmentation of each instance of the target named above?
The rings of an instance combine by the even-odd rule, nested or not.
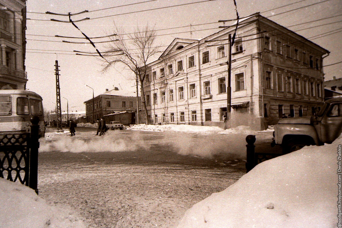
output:
[[[201,40],[176,38],[148,64],[144,90],[150,123],[224,127],[228,34],[234,30]],[[232,46],[232,113],[245,113],[239,121],[256,129],[275,124],[282,113],[311,115],[311,107],[323,101],[321,66],[327,53],[259,14],[241,19]]]

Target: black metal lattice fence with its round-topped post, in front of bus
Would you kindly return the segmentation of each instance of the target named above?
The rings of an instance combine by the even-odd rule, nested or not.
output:
[[[39,118],[31,118],[31,132],[0,134],[0,177],[29,186],[38,194]]]

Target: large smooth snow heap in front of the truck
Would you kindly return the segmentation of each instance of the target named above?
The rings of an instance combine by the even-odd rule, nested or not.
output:
[[[257,165],[190,208],[179,228],[332,228],[337,225],[337,147],[304,147]]]

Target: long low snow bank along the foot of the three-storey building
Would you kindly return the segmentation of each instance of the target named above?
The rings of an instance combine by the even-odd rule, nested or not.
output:
[[[217,126],[196,126],[188,124],[165,124],[165,125],[152,125],[152,124],[138,124],[131,125],[127,128],[128,130],[141,130],[141,131],[173,131],[173,132],[220,132],[222,128]]]

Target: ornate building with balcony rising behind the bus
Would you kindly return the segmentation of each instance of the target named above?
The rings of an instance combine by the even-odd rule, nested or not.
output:
[[[23,33],[26,18],[23,19],[22,9],[26,11],[25,1],[1,0],[0,11],[0,89],[25,89],[27,76],[24,71]]]

